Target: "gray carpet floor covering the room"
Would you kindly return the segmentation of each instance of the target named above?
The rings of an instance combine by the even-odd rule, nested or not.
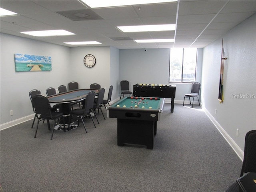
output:
[[[106,110],[103,109],[106,116]],[[242,161],[199,106],[165,104],[153,150],[117,146],[117,120],[98,114],[67,132],[32,120],[2,130],[4,192],[224,192]]]

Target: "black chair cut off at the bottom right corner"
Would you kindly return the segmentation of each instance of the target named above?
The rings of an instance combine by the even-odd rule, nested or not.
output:
[[[244,144],[244,161],[240,177],[247,172],[256,172],[256,130],[251,130],[246,133]],[[240,187],[237,182],[234,182],[228,187],[226,192],[239,192]]]

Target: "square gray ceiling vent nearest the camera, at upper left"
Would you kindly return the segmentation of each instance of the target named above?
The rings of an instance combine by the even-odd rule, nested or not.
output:
[[[103,19],[101,16],[96,14],[90,9],[82,10],[71,10],[71,11],[58,11],[56,12],[66,18],[69,18],[73,21],[86,21],[86,20],[98,20]]]

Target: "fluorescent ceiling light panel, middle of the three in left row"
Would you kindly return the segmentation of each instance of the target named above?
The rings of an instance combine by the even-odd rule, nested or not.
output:
[[[66,30],[25,31],[21,33],[36,37],[75,35],[74,33]]]

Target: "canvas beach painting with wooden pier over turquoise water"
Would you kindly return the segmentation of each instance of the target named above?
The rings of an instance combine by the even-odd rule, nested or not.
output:
[[[51,71],[52,57],[14,54],[15,71]]]

